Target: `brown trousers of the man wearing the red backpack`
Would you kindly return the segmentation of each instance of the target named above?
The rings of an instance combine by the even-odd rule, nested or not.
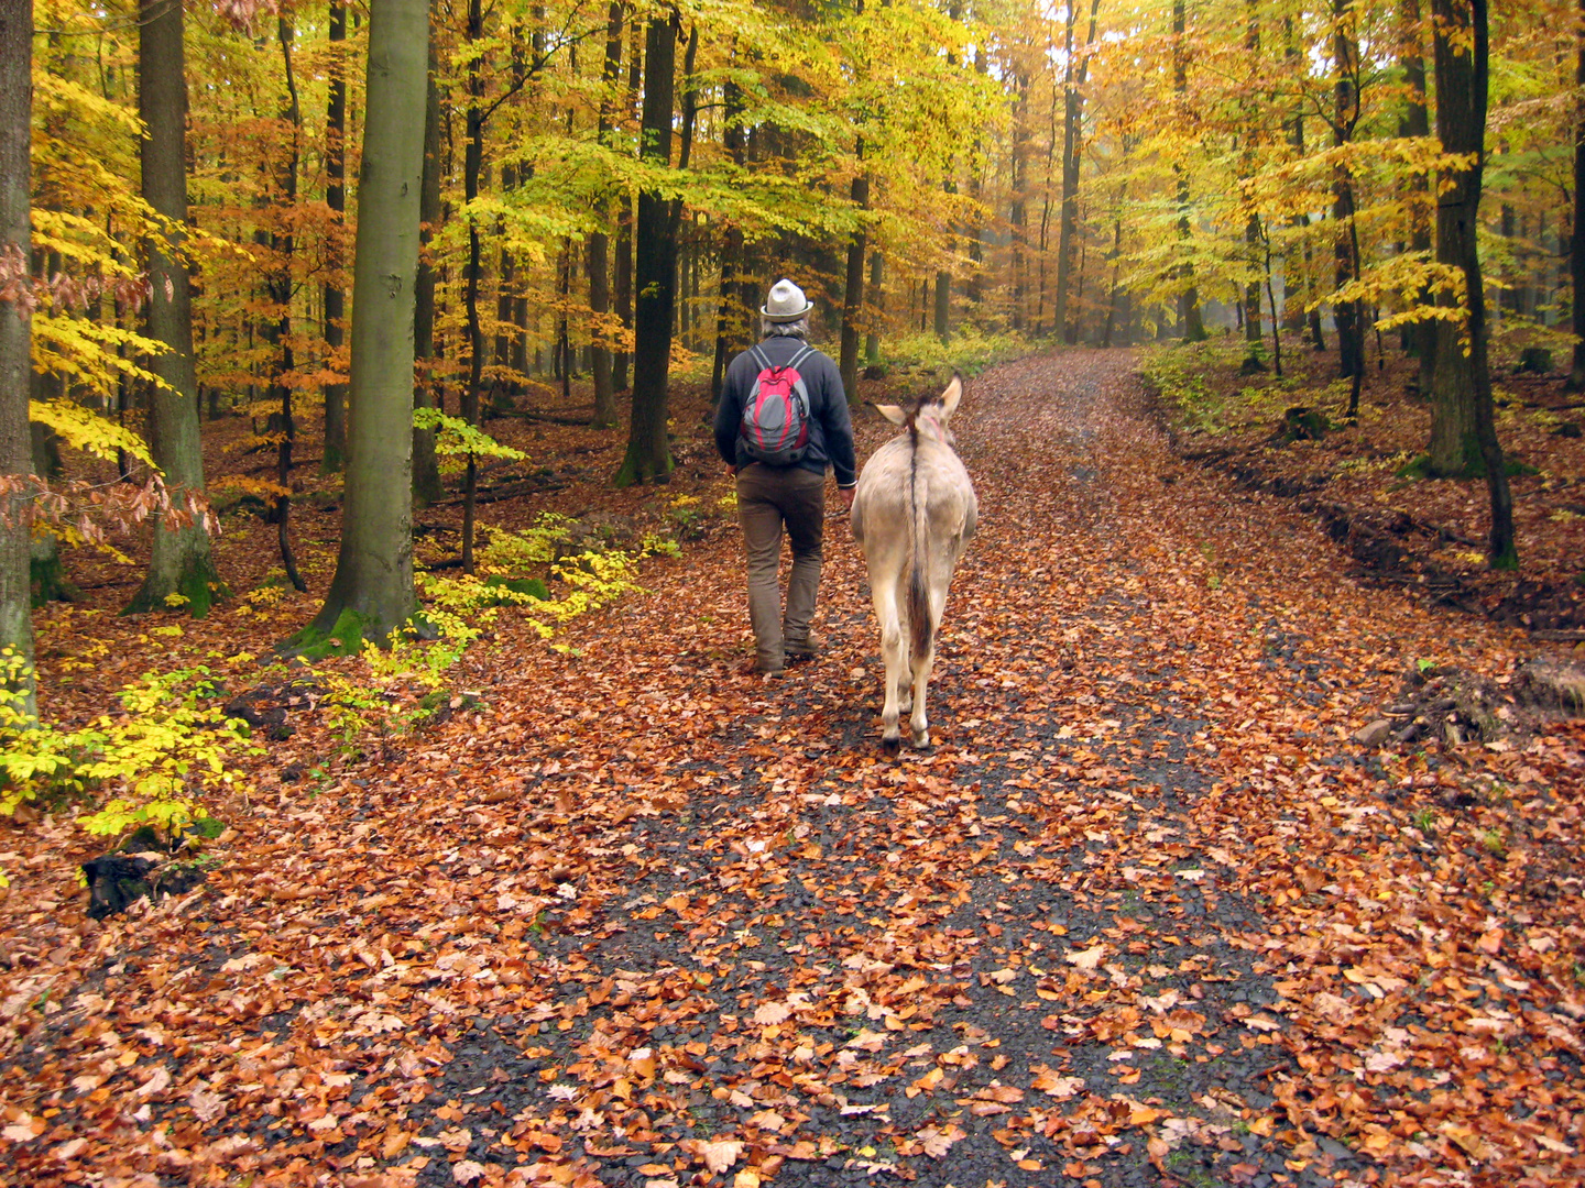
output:
[[[748,621],[754,627],[754,656],[762,672],[781,668],[788,642],[808,640],[819,594],[821,540],[826,529],[826,475],[802,466],[754,463],[737,472],[737,516],[748,554]],[[781,527],[792,545],[786,611],[777,570],[781,564]]]

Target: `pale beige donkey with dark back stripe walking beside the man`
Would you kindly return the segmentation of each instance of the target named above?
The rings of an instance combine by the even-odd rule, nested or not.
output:
[[[953,375],[946,391],[922,396],[911,407],[875,406],[907,432],[870,456],[853,496],[853,539],[870,570],[886,659],[881,746],[888,754],[902,748],[897,716],[910,705],[913,744],[930,744],[924,689],[935,662],[935,632],[953,569],[980,516],[973,483],[946,428],[962,394],[964,383]]]

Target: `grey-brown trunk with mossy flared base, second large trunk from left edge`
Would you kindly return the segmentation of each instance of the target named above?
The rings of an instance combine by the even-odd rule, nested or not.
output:
[[[170,385],[149,393],[149,451],[165,474],[174,504],[203,497],[203,444],[198,437],[198,375],[193,366],[192,291],[181,250],[187,222],[187,74],[181,0],[141,0],[138,24],[138,114],[143,146],[143,198],[170,220],[171,241],[149,239],[149,337],[170,350],[149,371]],[[214,570],[203,521],[170,527],[155,516],[149,573],[127,613],[166,610],[171,596],[203,618],[225,588]]]

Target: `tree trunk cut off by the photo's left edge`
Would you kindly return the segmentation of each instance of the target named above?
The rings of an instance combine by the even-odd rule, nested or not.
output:
[[[33,112],[33,5],[0,3],[0,271],[22,272],[32,258],[29,149]],[[33,615],[29,599],[27,496],[33,472],[27,401],[32,390],[29,310],[0,299],[0,700],[35,719]]]

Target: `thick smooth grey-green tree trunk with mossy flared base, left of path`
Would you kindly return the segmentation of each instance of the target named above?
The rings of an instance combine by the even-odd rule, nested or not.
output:
[[[347,391],[347,497],[325,605],[304,637],[385,640],[418,608],[412,584],[412,363],[430,8],[372,0],[358,169]]]

